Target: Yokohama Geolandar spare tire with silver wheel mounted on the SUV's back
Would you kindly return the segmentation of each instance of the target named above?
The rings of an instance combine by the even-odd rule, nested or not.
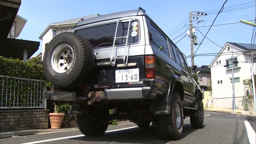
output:
[[[76,33],[60,33],[45,46],[45,75],[58,88],[81,85],[90,75],[93,62],[91,44]]]

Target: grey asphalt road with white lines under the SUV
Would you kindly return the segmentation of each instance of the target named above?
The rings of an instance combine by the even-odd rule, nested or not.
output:
[[[184,120],[181,140],[169,141],[159,137],[156,126],[148,129],[136,124],[109,126],[101,137],[86,137],[79,130],[55,132],[1,139],[1,144],[16,144],[41,141],[42,143],[79,144],[79,143],[243,143],[249,139],[244,121],[255,126],[255,117],[215,112],[205,112],[203,129],[192,129],[189,119]],[[123,130],[120,130],[123,129]],[[255,131],[255,128],[254,128]],[[73,136],[73,137],[70,137]],[[69,138],[67,138],[69,137]],[[57,140],[56,140],[57,139]],[[48,140],[48,141],[47,141]]]

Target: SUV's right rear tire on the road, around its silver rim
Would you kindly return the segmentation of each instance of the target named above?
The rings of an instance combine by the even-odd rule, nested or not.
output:
[[[176,105],[179,106],[180,110],[179,127],[177,127],[176,124]],[[183,117],[184,111],[180,95],[177,92],[173,92],[170,114],[161,115],[157,117],[157,129],[160,136],[167,140],[179,140],[183,132]]]

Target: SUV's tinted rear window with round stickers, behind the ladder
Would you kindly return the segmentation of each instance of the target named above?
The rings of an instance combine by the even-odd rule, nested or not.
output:
[[[129,22],[119,22],[116,37],[127,36]],[[112,46],[116,32],[116,23],[77,30],[76,33],[87,39],[92,48]],[[139,42],[138,21],[131,21],[128,44]],[[126,38],[116,39],[115,45],[125,44]]]

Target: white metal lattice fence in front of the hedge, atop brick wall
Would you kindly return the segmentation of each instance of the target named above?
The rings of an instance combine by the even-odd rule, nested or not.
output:
[[[0,108],[45,108],[44,83],[0,75]]]

